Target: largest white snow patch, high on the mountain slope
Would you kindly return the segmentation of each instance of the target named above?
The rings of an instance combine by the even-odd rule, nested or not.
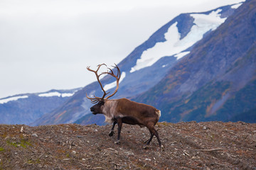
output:
[[[177,22],[172,24],[164,34],[166,41],[157,42],[154,47],[142,52],[142,56],[137,60],[136,65],[132,67],[130,72],[149,67],[161,57],[174,55],[179,60],[187,55],[189,52],[184,53],[184,50],[201,40],[209,30],[215,30],[221,23],[224,23],[226,18],[220,18],[221,11],[221,9],[217,9],[209,14],[191,13],[190,16],[195,19],[193,26],[186,37],[182,39],[181,34],[178,33]]]

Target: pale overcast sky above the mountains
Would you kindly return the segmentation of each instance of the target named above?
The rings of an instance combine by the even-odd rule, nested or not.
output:
[[[242,0],[0,0],[0,98],[95,81],[180,13]]]

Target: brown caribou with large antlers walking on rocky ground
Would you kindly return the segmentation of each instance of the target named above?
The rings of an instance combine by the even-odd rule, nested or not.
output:
[[[150,137],[149,140],[147,140],[146,145],[143,147],[144,149],[147,148],[147,146],[149,145],[149,143],[151,142],[152,138],[155,135],[156,139],[159,142],[159,147],[161,151],[164,150],[164,145],[161,144],[159,134],[154,128],[154,126],[156,125],[161,116],[161,111],[154,108],[153,106],[149,106],[144,103],[130,101],[127,98],[110,100],[109,98],[114,96],[114,94],[116,94],[117,90],[119,89],[119,79],[121,77],[121,73],[119,67],[117,67],[117,64],[115,64],[114,69],[117,69],[117,74],[114,74],[113,70],[110,68],[107,68],[107,72],[102,72],[101,74],[98,74],[97,72],[99,71],[102,65],[105,65],[105,67],[107,67],[106,64],[97,65],[96,70],[92,70],[90,69],[90,67],[87,67],[88,71],[95,73],[97,81],[100,84],[100,87],[103,91],[103,96],[101,98],[97,96],[89,97],[86,94],[86,97],[90,99],[92,103],[95,103],[95,105],[90,108],[90,111],[94,115],[105,115],[105,121],[107,123],[112,123],[112,128],[109,133],[110,137],[114,135],[114,126],[116,124],[118,125],[117,142],[115,142],[116,144],[120,144],[120,133],[122,129],[122,123],[126,123],[129,125],[139,125],[141,128],[146,127],[149,129]],[[106,93],[105,89],[102,86],[102,83],[100,82],[100,76],[102,74],[109,74],[110,76],[116,79],[117,86],[114,90],[114,93]],[[107,96],[108,94],[110,95]]]

